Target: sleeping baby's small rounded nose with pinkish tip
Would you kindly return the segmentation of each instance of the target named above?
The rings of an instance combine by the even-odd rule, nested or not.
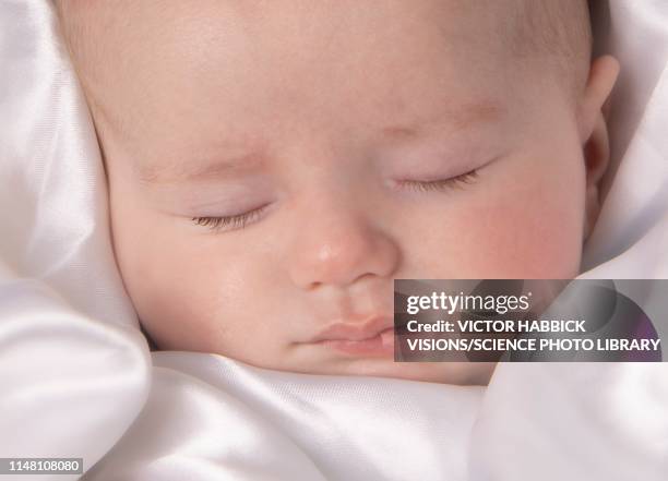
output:
[[[307,290],[346,287],[362,277],[390,277],[396,270],[397,243],[359,209],[332,205],[311,213],[296,232],[290,254],[296,286]]]

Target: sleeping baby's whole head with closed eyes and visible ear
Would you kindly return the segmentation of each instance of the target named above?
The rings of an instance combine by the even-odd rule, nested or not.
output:
[[[393,362],[393,279],[577,275],[618,70],[592,63],[585,0],[59,13],[160,349],[478,383],[489,364]]]

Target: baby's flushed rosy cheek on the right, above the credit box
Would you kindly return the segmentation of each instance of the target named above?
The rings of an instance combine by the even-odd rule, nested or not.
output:
[[[512,177],[512,180],[511,180]],[[424,252],[431,275],[572,278],[582,253],[584,188],[576,170],[516,170],[452,206]],[[581,192],[582,191],[582,192]],[[438,239],[437,239],[438,238]]]

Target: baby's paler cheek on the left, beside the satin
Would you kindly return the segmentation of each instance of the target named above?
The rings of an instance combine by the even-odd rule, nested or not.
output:
[[[123,279],[160,349],[217,352],[247,362],[257,361],[250,354],[271,351],[272,346],[257,349],[255,339],[273,337],[262,335],[261,323],[249,322],[266,315],[242,249],[225,249],[220,236],[193,232],[163,216],[124,220],[117,229]]]

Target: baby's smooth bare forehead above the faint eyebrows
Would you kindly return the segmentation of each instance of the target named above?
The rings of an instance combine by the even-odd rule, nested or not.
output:
[[[181,119],[211,131],[222,112],[241,132],[336,104],[379,123],[363,116],[508,92],[504,75],[517,68],[508,56],[546,14],[526,2],[546,3],[60,0],[60,13],[90,101],[128,131],[167,139]],[[356,97],[380,107],[356,110]]]

